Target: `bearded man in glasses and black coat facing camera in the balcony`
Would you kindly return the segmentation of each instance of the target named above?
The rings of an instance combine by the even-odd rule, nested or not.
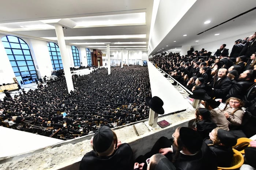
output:
[[[224,98],[229,93],[231,80],[226,76],[227,69],[220,68],[218,76],[215,76],[211,82],[211,88],[213,89],[212,98]]]

